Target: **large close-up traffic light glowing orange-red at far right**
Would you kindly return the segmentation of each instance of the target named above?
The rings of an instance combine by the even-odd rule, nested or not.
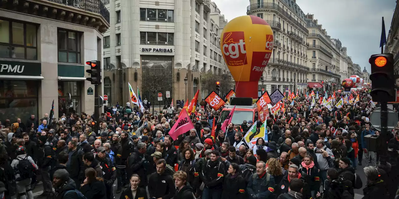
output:
[[[371,55],[371,97],[373,101],[395,100],[395,78],[393,74],[393,55],[391,53]]]

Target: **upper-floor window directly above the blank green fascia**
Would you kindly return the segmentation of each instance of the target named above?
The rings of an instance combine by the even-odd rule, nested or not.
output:
[[[80,60],[81,33],[68,30],[58,30],[58,61],[81,63]]]

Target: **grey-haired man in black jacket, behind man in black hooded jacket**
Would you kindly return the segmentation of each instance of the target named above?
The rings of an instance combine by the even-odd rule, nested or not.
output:
[[[144,154],[146,153],[147,146],[145,143],[140,142],[137,144],[137,150],[132,152],[127,159],[128,166],[126,167],[127,176],[137,174],[140,176],[140,184],[138,187],[145,188],[147,186],[147,172],[144,168]]]

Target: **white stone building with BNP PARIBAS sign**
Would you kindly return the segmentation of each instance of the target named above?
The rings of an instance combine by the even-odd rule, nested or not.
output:
[[[201,72],[228,70],[220,50],[227,20],[210,0],[107,0],[105,6],[111,27],[103,43],[104,91],[111,105],[130,101],[128,82],[142,99],[163,105],[192,98],[201,90]]]

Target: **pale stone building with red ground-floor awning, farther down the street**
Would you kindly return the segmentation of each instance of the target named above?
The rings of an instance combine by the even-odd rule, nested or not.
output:
[[[331,39],[326,29],[312,14],[306,15],[306,27],[309,36],[306,40],[309,87],[319,90],[332,90],[340,85],[340,49],[341,42]]]

